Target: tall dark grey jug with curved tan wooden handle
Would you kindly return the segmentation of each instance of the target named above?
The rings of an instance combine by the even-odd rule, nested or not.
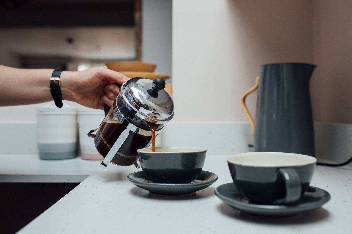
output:
[[[315,156],[309,81],[316,65],[271,63],[260,67],[256,84],[245,92],[241,105],[252,125],[254,151]],[[245,104],[258,89],[256,119]]]

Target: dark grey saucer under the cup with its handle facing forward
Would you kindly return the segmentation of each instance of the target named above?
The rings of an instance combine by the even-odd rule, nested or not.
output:
[[[215,189],[218,196],[227,205],[246,213],[262,216],[291,216],[321,207],[330,200],[330,194],[323,189],[309,186],[301,199],[287,205],[260,205],[251,203],[238,192],[234,183],[226,183]]]

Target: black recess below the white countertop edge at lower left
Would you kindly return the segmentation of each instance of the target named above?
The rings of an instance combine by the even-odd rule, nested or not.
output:
[[[0,232],[18,232],[78,184],[0,183]]]

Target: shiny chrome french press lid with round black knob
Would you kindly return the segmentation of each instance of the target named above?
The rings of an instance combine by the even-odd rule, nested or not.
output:
[[[128,109],[148,122],[169,122],[174,116],[174,101],[165,80],[136,77],[121,85],[120,95]]]

